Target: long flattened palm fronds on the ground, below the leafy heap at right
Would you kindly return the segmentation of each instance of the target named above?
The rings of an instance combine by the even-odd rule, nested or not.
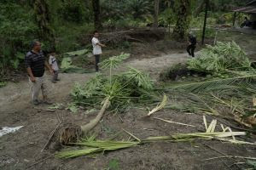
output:
[[[235,120],[247,127],[256,125],[256,75],[231,77],[204,82],[180,82],[168,86],[172,105],[180,111],[201,112]],[[172,107],[171,109],[175,109]]]

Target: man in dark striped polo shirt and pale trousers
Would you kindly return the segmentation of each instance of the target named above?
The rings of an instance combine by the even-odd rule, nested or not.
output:
[[[49,69],[49,72],[53,75],[53,70],[50,68],[46,61],[43,51],[41,50],[41,43],[38,41],[32,41],[32,50],[25,56],[26,71],[29,76],[29,82],[32,90],[32,104],[39,105],[38,95],[40,90],[43,94],[44,104],[50,105],[48,98],[47,86],[44,77],[44,66]]]

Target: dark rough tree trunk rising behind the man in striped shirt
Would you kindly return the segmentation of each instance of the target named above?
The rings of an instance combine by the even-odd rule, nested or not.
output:
[[[40,40],[49,42],[49,48],[55,50],[55,37],[49,26],[49,7],[46,0],[34,0],[33,8],[38,23]]]

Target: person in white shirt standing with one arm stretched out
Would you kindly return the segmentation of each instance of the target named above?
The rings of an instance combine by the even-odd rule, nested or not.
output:
[[[100,56],[102,54],[102,48],[106,47],[104,44],[102,44],[99,39],[99,32],[98,31],[94,31],[93,33],[93,38],[91,40],[92,43],[92,47],[93,47],[93,51],[92,53],[95,56],[95,67],[96,67],[96,71],[99,71],[99,66],[98,64],[100,63]]]

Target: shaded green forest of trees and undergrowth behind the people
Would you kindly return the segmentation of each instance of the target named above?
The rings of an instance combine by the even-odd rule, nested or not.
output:
[[[212,0],[208,24],[232,22],[231,8],[249,0]],[[185,10],[184,10],[185,9]],[[2,0],[0,2],[0,79],[22,67],[30,42],[62,54],[90,48],[84,42],[94,30],[172,29],[183,39],[189,28],[201,28],[204,0]],[[177,26],[178,25],[178,26]],[[211,30],[207,30],[211,34]],[[177,34],[177,35],[175,35]],[[1,81],[0,81],[1,82]]]

